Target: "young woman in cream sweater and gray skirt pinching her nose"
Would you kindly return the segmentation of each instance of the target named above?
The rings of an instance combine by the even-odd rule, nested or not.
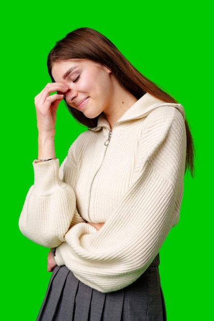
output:
[[[20,217],[24,235],[52,248],[37,320],[166,320],[159,250],[179,220],[185,169],[193,172],[183,107],[89,28],[56,43],[48,70],[52,83],[35,97],[34,185]],[[63,99],[88,130],[59,168]]]

